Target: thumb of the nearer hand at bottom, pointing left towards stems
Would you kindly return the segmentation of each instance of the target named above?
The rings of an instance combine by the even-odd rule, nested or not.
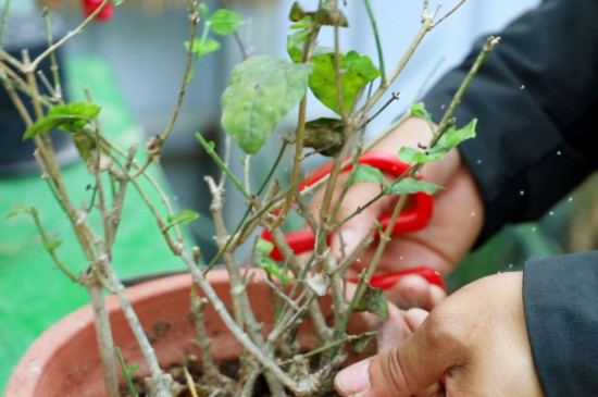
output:
[[[458,350],[439,337],[429,321],[398,346],[340,371],[335,387],[341,396],[412,396],[440,381],[457,365]],[[443,342],[444,340],[444,342]]]

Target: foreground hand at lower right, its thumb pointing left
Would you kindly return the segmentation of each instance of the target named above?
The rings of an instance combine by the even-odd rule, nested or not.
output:
[[[525,326],[522,272],[481,278],[429,315],[410,310],[414,333],[335,379],[342,396],[541,396]]]

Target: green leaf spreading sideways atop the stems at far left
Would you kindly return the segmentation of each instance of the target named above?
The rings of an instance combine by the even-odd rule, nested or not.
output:
[[[23,135],[23,140],[33,138],[53,128],[61,128],[68,133],[75,133],[95,120],[100,114],[101,108],[90,102],[73,102],[57,104],[48,111],[48,115],[38,120]]]

